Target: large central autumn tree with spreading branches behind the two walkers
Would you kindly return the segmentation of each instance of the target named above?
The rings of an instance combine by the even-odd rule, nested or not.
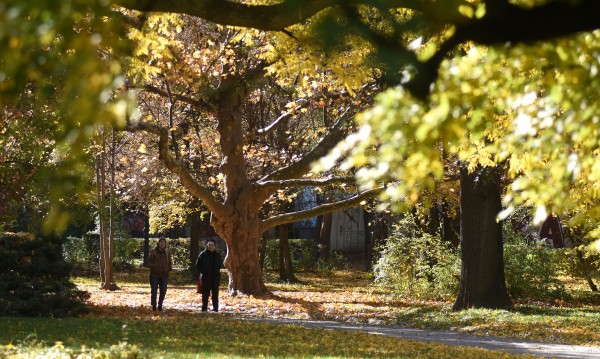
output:
[[[145,150],[211,213],[227,243],[229,289],[262,294],[259,239],[269,228],[355,206],[378,189],[304,211],[267,217],[263,206],[307,186],[352,181],[319,177],[311,164],[335,147],[364,108],[372,84],[357,101],[334,82],[302,75],[283,86],[265,78],[259,32],[217,27],[197,19],[132,17],[137,43],[129,65],[130,88],[140,90],[140,116],[127,129],[144,137]],[[141,29],[141,30],[140,30]],[[330,93],[329,93],[330,92]],[[320,122],[323,105],[336,120]],[[152,144],[151,141],[154,141]],[[167,187],[171,188],[171,187]],[[283,196],[283,197],[282,197]]]

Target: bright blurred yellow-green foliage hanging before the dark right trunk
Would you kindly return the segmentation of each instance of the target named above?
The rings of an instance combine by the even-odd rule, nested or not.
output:
[[[510,49],[464,44],[441,63],[426,102],[386,90],[358,116],[360,132],[323,163],[352,153],[345,166],[360,168],[363,188],[395,183],[382,199],[398,209],[443,181],[447,158],[470,170],[506,166],[502,216],[523,204],[536,223],[570,213],[597,239],[599,39],[594,31]]]

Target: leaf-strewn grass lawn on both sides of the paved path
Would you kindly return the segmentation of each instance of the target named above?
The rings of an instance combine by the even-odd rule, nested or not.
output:
[[[223,289],[221,312],[203,314],[192,281],[180,272],[170,279],[165,311],[156,315],[149,308],[147,276],[142,271],[119,274],[115,279],[121,290],[115,292],[100,291],[96,279],[76,278],[91,294],[90,313],[79,318],[0,318],[0,357],[28,358],[36,352],[57,358],[512,357],[356,332],[248,322],[245,317],[394,324],[600,346],[600,296],[589,293],[572,302],[522,300],[512,311],[456,313],[451,302],[410,300],[378,291],[364,272],[299,273],[297,284],[279,283],[267,273],[270,295],[232,298]]]

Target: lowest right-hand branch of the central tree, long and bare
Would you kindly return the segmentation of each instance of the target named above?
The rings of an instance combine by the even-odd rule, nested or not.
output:
[[[378,193],[383,191],[383,188],[375,188],[362,193],[357,194],[352,198],[345,199],[334,203],[323,204],[314,208],[298,211],[292,213],[286,213],[279,216],[274,216],[261,222],[260,231],[264,232],[269,228],[276,227],[280,224],[298,222],[309,218],[314,218],[325,213],[330,213],[346,208],[352,208],[358,206],[361,202],[366,201],[369,198],[374,197]]]

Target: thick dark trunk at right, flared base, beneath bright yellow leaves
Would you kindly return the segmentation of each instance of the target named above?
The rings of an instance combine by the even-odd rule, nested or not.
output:
[[[461,276],[454,310],[512,306],[504,278],[500,174],[461,169]]]

